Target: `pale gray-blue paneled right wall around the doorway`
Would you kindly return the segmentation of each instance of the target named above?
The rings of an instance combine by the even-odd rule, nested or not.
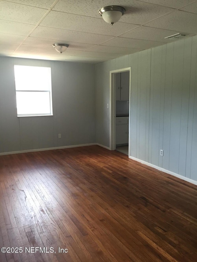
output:
[[[131,156],[197,181],[196,62],[194,36],[96,65],[96,142],[109,147],[109,72],[131,66]]]

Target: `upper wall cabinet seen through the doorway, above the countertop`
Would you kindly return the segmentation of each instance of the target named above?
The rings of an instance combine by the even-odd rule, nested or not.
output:
[[[116,100],[129,101],[129,71],[116,73]]]

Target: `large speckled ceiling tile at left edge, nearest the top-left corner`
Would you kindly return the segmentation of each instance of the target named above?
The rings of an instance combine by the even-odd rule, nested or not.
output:
[[[25,6],[12,2],[0,2],[0,17],[2,20],[36,25],[46,9],[33,6]]]

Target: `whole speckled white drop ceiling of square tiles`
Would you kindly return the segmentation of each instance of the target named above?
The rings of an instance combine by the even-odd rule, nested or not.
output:
[[[126,9],[112,26],[98,14],[108,5]],[[0,0],[0,56],[95,64],[196,35],[196,25],[197,0]]]

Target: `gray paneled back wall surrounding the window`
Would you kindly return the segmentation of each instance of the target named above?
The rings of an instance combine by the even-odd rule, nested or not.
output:
[[[17,117],[14,64],[51,66],[53,116]],[[94,65],[0,57],[0,152],[95,143],[95,126]]]

